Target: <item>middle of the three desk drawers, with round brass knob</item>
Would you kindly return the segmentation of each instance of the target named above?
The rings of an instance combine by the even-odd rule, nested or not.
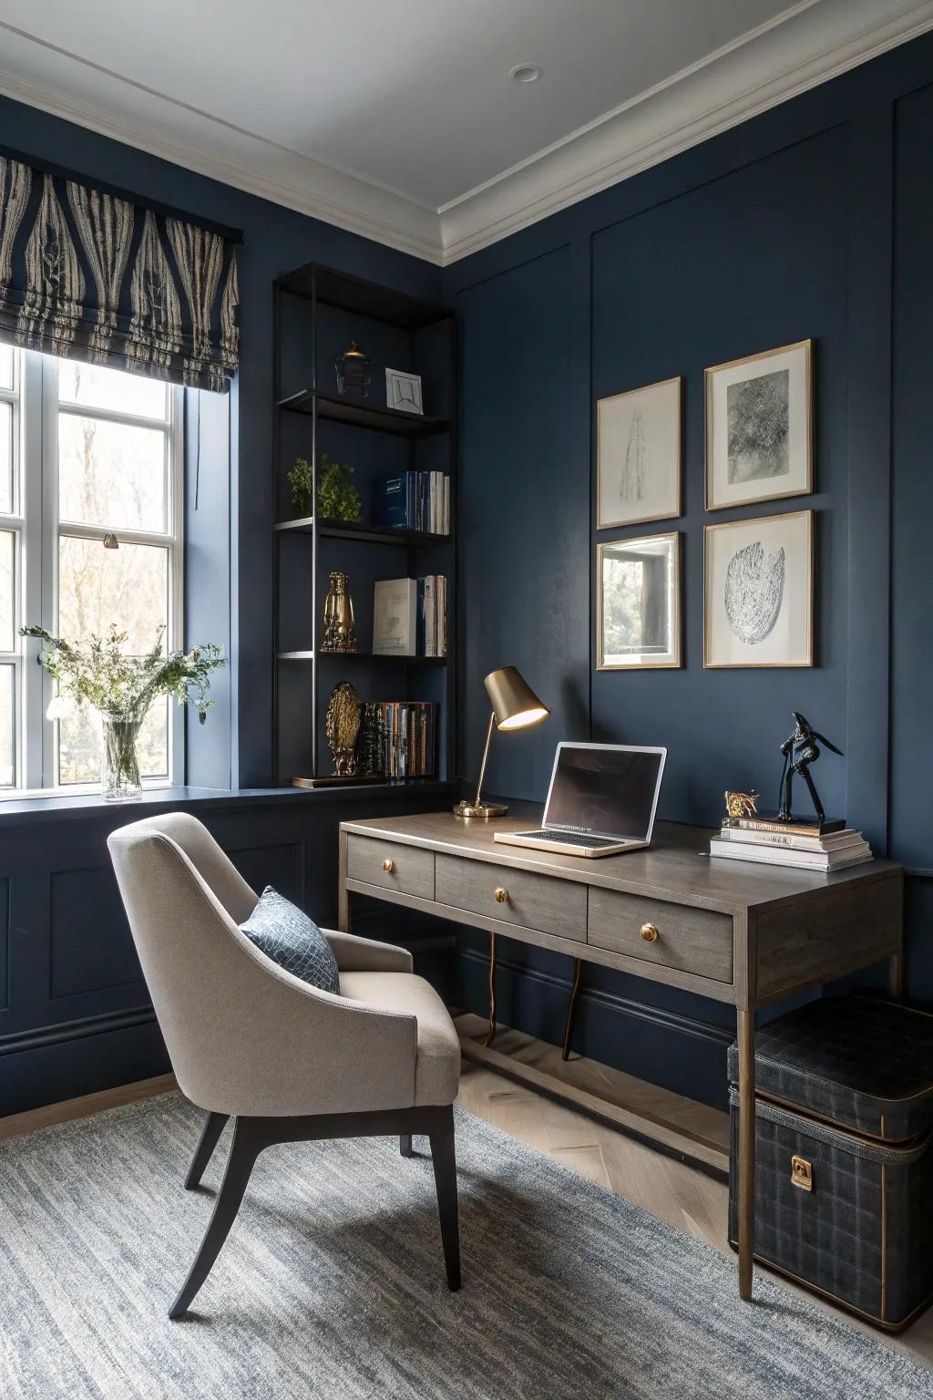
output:
[[[497,900],[497,889],[505,890],[508,897]],[[436,890],[439,904],[558,938],[586,941],[586,885],[508,865],[438,855]]]

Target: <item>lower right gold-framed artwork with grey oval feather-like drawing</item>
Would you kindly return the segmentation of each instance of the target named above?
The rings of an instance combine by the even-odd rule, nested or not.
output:
[[[813,665],[813,511],[706,525],[705,666]]]

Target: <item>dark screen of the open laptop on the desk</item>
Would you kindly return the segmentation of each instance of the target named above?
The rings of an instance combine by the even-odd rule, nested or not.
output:
[[[649,840],[664,757],[664,749],[558,745],[544,825]]]

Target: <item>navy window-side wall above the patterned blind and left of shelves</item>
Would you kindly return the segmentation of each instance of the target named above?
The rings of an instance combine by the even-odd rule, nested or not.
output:
[[[238,521],[231,589],[236,679],[232,781],[241,787],[270,783],[273,280],[305,262],[322,262],[436,300],[439,270],[0,97],[0,147],[4,146],[25,158],[120,186],[138,195],[141,202],[171,204],[243,231],[239,251],[241,372],[234,389],[232,424],[238,465],[232,497],[232,518]]]

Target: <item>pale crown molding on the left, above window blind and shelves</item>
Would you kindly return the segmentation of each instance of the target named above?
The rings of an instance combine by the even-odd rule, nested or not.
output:
[[[190,108],[179,109],[158,94],[136,91],[151,113],[151,120],[141,126],[4,69],[0,69],[0,92],[273,204],[438,266],[443,260],[435,210]],[[194,127],[194,140],[172,134],[182,120],[186,133]]]

